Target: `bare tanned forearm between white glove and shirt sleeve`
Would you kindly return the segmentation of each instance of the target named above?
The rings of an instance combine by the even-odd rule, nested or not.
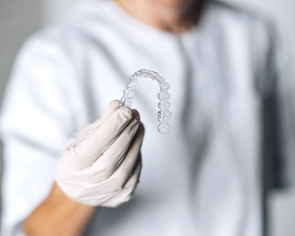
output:
[[[47,199],[24,221],[24,231],[28,236],[82,235],[94,211],[95,207],[69,199],[54,184]]]

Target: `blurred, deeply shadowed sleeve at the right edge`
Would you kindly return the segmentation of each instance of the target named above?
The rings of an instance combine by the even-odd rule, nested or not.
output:
[[[264,186],[295,186],[295,78],[284,32],[266,26],[263,63]]]

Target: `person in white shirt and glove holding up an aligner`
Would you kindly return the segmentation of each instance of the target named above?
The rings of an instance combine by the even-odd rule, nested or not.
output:
[[[263,235],[295,179],[287,45],[219,1],[78,1],[7,83],[1,235]]]

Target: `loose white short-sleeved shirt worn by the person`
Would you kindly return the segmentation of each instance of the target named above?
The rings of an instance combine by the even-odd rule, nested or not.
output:
[[[120,99],[139,69],[170,84],[172,131],[158,133],[158,84],[142,78],[132,105],[146,130],[140,183],[130,202],[99,208],[86,235],[261,235],[261,163],[283,160],[280,182],[295,179],[286,52],[263,18],[214,1],[181,36],[113,1],[81,1],[27,40],[15,61],[0,123],[2,235],[23,235],[65,141]]]

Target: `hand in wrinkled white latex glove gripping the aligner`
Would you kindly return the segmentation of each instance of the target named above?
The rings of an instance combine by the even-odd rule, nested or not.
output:
[[[140,175],[143,134],[136,110],[110,102],[98,120],[67,142],[57,161],[56,183],[68,197],[89,206],[129,201]]]

